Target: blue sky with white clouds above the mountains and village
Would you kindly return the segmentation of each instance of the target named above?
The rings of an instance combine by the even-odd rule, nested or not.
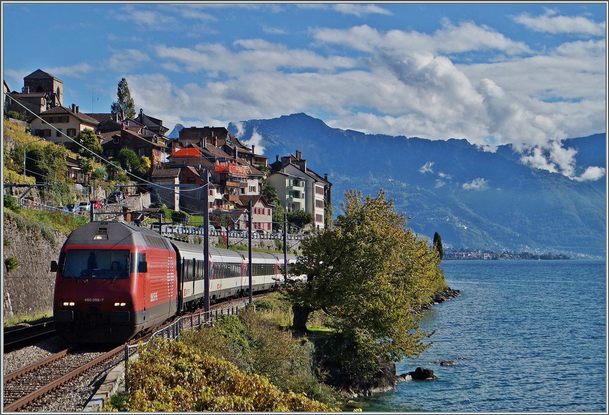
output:
[[[330,127],[481,150],[574,180],[561,140],[605,133],[603,3],[2,4],[12,90],[42,69],[109,112],[121,77],[170,130],[307,113]]]

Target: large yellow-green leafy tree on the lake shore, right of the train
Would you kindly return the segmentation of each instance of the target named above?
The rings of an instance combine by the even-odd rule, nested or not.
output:
[[[333,229],[301,242],[293,274],[306,282],[287,291],[295,329],[306,330],[309,313],[323,310],[344,346],[335,356],[343,372],[362,377],[376,371],[375,356],[398,361],[425,349],[410,310],[445,288],[437,255],[384,195],[345,192]],[[359,363],[347,367],[350,358]]]

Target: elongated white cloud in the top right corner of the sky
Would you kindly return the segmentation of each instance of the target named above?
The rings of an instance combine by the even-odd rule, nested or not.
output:
[[[583,33],[596,36],[605,34],[605,22],[596,23],[583,16],[555,16],[555,14],[555,10],[547,10],[544,15],[537,17],[529,13],[521,13],[514,17],[514,21],[524,24],[535,32]]]

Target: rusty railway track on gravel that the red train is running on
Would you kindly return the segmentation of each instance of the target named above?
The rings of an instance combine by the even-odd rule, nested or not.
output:
[[[255,295],[259,298],[263,295]],[[227,306],[232,310],[235,305],[242,304],[243,299],[233,299],[228,302],[214,304],[211,309],[226,309]],[[235,304],[238,303],[238,304]],[[47,323],[48,324],[48,323]],[[171,324],[163,324],[159,329]],[[29,327],[27,327],[29,328]],[[20,330],[20,329],[19,329]],[[13,330],[18,331],[18,330]],[[48,333],[46,333],[48,335]],[[138,341],[146,341],[148,335],[130,341],[135,344]],[[118,355],[124,354],[124,345],[116,347],[109,352],[94,351],[83,349],[80,346],[69,347],[45,358],[36,363],[30,364],[26,368],[7,374],[3,378],[3,410],[4,412],[18,411],[32,405],[33,402],[40,400],[45,394],[59,388],[79,377],[85,372],[102,365]]]

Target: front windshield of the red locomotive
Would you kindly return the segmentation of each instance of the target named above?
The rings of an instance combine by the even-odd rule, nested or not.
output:
[[[128,278],[129,254],[127,249],[68,249],[63,276]]]

